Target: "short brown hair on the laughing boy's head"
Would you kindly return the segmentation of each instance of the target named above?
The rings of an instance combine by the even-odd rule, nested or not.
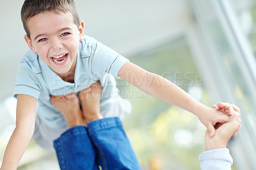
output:
[[[30,38],[27,21],[29,18],[41,12],[68,13],[73,16],[74,23],[79,27],[79,16],[77,14],[74,0],[26,0],[20,12],[23,27]]]

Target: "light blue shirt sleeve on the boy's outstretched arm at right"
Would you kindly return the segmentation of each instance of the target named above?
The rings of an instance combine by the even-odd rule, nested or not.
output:
[[[95,50],[92,54],[92,72],[93,73],[110,73],[118,77],[118,72],[122,66],[129,61],[115,50],[106,47],[100,42],[95,44]]]

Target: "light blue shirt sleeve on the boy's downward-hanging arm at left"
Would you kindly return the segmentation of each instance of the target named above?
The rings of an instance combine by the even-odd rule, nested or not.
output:
[[[31,70],[28,62],[21,62],[17,72],[13,97],[17,98],[17,95],[29,95],[38,99],[40,92],[40,84],[35,73]]]

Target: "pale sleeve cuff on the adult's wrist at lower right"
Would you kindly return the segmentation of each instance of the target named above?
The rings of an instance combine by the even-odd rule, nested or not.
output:
[[[204,151],[200,154],[202,170],[229,170],[233,164],[233,159],[227,148]]]

